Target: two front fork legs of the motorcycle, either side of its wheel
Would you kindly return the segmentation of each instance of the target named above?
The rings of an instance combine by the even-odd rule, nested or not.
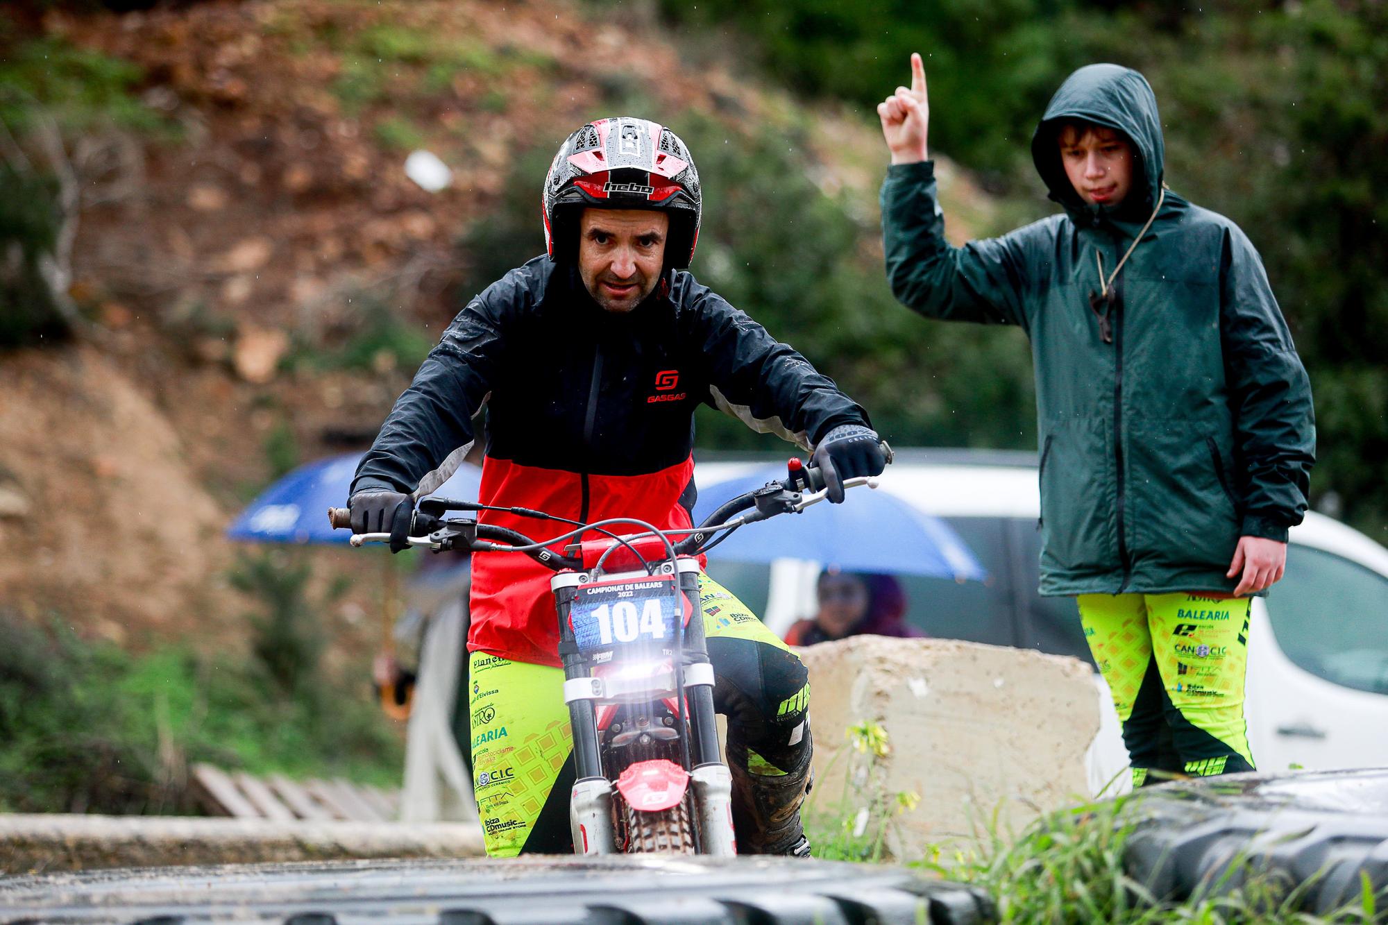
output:
[[[683,665],[708,664],[704,640],[704,614],[700,601],[698,561],[677,561],[679,586],[693,612],[684,626]],[[569,608],[577,597],[577,588],[587,581],[579,572],[559,572],[550,582],[555,611],[559,617],[559,658],[564,664],[564,699],[569,707],[569,726],[573,732],[575,782],[569,801],[569,824],[576,854],[615,854],[616,832],[612,825],[612,782],[602,772],[602,753],[598,742],[597,696],[600,681],[590,678],[589,665],[579,654],[569,624]],[[683,607],[679,608],[683,612]],[[690,782],[694,786],[694,808],[698,832],[695,843],[702,854],[731,856],[737,853],[733,839],[731,775],[719,756],[718,724],[713,714],[712,672],[698,672],[697,681],[686,679],[688,729],[682,729],[690,746]]]

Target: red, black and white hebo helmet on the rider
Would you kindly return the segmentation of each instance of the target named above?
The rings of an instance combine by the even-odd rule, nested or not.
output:
[[[575,257],[577,217],[587,206],[668,212],[665,264],[679,269],[690,265],[704,196],[688,149],[663,125],[623,115],[589,122],[565,139],[544,179],[550,257]]]

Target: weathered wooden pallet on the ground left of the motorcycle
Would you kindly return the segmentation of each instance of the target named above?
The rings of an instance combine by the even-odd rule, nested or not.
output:
[[[394,822],[400,818],[400,793],[362,783],[290,781],[272,774],[255,778],[228,774],[211,764],[194,764],[193,793],[212,815],[237,819],[312,819],[318,822]]]

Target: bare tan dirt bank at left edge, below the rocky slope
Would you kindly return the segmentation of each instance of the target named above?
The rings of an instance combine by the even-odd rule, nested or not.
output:
[[[0,600],[117,642],[235,636],[225,514],[150,400],[90,347],[7,357],[0,394]]]

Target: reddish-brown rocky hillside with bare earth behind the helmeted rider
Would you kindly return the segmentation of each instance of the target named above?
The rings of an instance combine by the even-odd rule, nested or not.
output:
[[[0,354],[0,601],[135,643],[235,639],[221,529],[289,465],[369,439],[464,294],[459,239],[522,153],[586,118],[697,115],[733,146],[794,129],[815,185],[870,231],[880,139],[859,114],[734,76],[719,56],[737,49],[690,60],[622,8],[222,1],[11,22],[11,51],[86,61],[78,81],[133,65],[117,92],[139,118],[65,129],[100,190],[72,251],[92,329]],[[416,150],[447,188],[407,176]],[[985,197],[947,179],[952,233],[987,225]],[[372,607],[358,594],[337,629]]]

